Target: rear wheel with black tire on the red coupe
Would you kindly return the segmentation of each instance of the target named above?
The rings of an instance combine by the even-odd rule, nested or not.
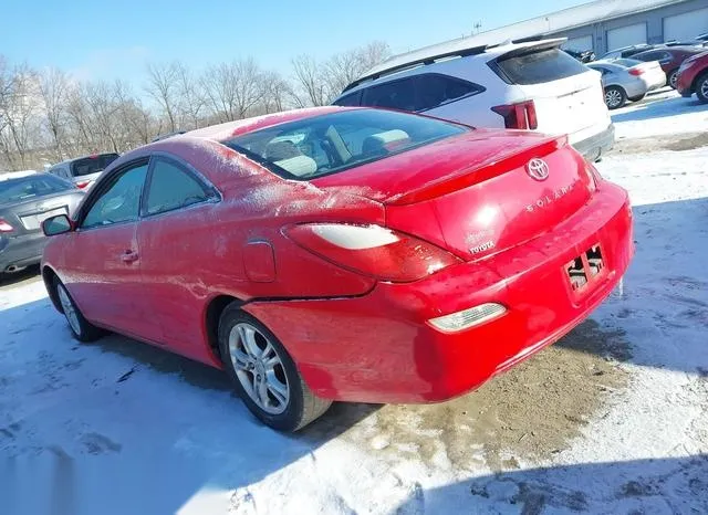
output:
[[[266,425],[294,432],[332,404],[310,390],[275,335],[238,304],[227,306],[219,317],[218,336],[221,361],[236,391]]]

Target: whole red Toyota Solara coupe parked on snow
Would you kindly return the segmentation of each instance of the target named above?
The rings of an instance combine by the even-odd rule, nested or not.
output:
[[[285,431],[332,400],[479,387],[587,317],[633,253],[626,192],[565,138],[368,108],[140,147],[43,229],[77,339],[223,368]]]

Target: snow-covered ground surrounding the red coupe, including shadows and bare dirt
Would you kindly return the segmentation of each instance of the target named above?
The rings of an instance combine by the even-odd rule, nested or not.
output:
[[[662,149],[597,165],[635,206],[622,287],[450,403],[335,404],[278,434],[220,372],[79,345],[41,281],[1,286],[0,513],[708,513],[708,147],[662,145],[708,111],[662,96],[613,116]]]

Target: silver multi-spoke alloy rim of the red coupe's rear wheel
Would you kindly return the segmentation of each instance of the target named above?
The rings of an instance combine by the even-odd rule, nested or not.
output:
[[[229,355],[236,377],[251,400],[267,413],[285,411],[290,385],[268,337],[251,324],[237,324],[229,333]]]

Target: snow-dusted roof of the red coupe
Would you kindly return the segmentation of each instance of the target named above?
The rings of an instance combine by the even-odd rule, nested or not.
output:
[[[211,125],[195,130],[189,130],[184,135],[177,135],[169,139],[178,139],[180,137],[194,137],[212,139],[215,141],[223,141],[236,136],[252,133],[258,129],[272,127],[274,125],[284,124],[287,122],[296,122],[300,119],[312,118],[313,116],[325,115],[327,113],[334,113],[336,111],[350,111],[352,107],[339,107],[339,106],[323,106],[323,107],[306,107],[302,109],[283,111],[281,113],[273,113],[262,116],[254,116],[252,118],[237,119],[235,122],[227,122],[225,124]]]

